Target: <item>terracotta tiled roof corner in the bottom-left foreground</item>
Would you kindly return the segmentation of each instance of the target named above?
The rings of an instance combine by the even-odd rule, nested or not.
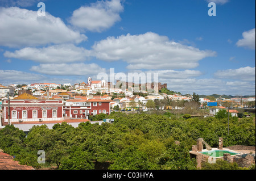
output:
[[[35,170],[31,166],[19,165],[18,161],[14,161],[9,154],[0,152],[0,170]]]

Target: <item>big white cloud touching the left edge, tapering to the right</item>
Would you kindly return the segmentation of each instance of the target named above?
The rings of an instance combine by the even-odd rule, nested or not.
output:
[[[48,13],[19,7],[0,7],[0,45],[26,47],[46,44],[81,43],[85,35],[68,28],[65,23]]]

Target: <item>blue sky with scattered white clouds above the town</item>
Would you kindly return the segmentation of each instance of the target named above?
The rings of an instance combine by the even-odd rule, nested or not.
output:
[[[2,85],[86,82],[110,68],[158,72],[182,94],[255,95],[255,1],[0,0]]]

